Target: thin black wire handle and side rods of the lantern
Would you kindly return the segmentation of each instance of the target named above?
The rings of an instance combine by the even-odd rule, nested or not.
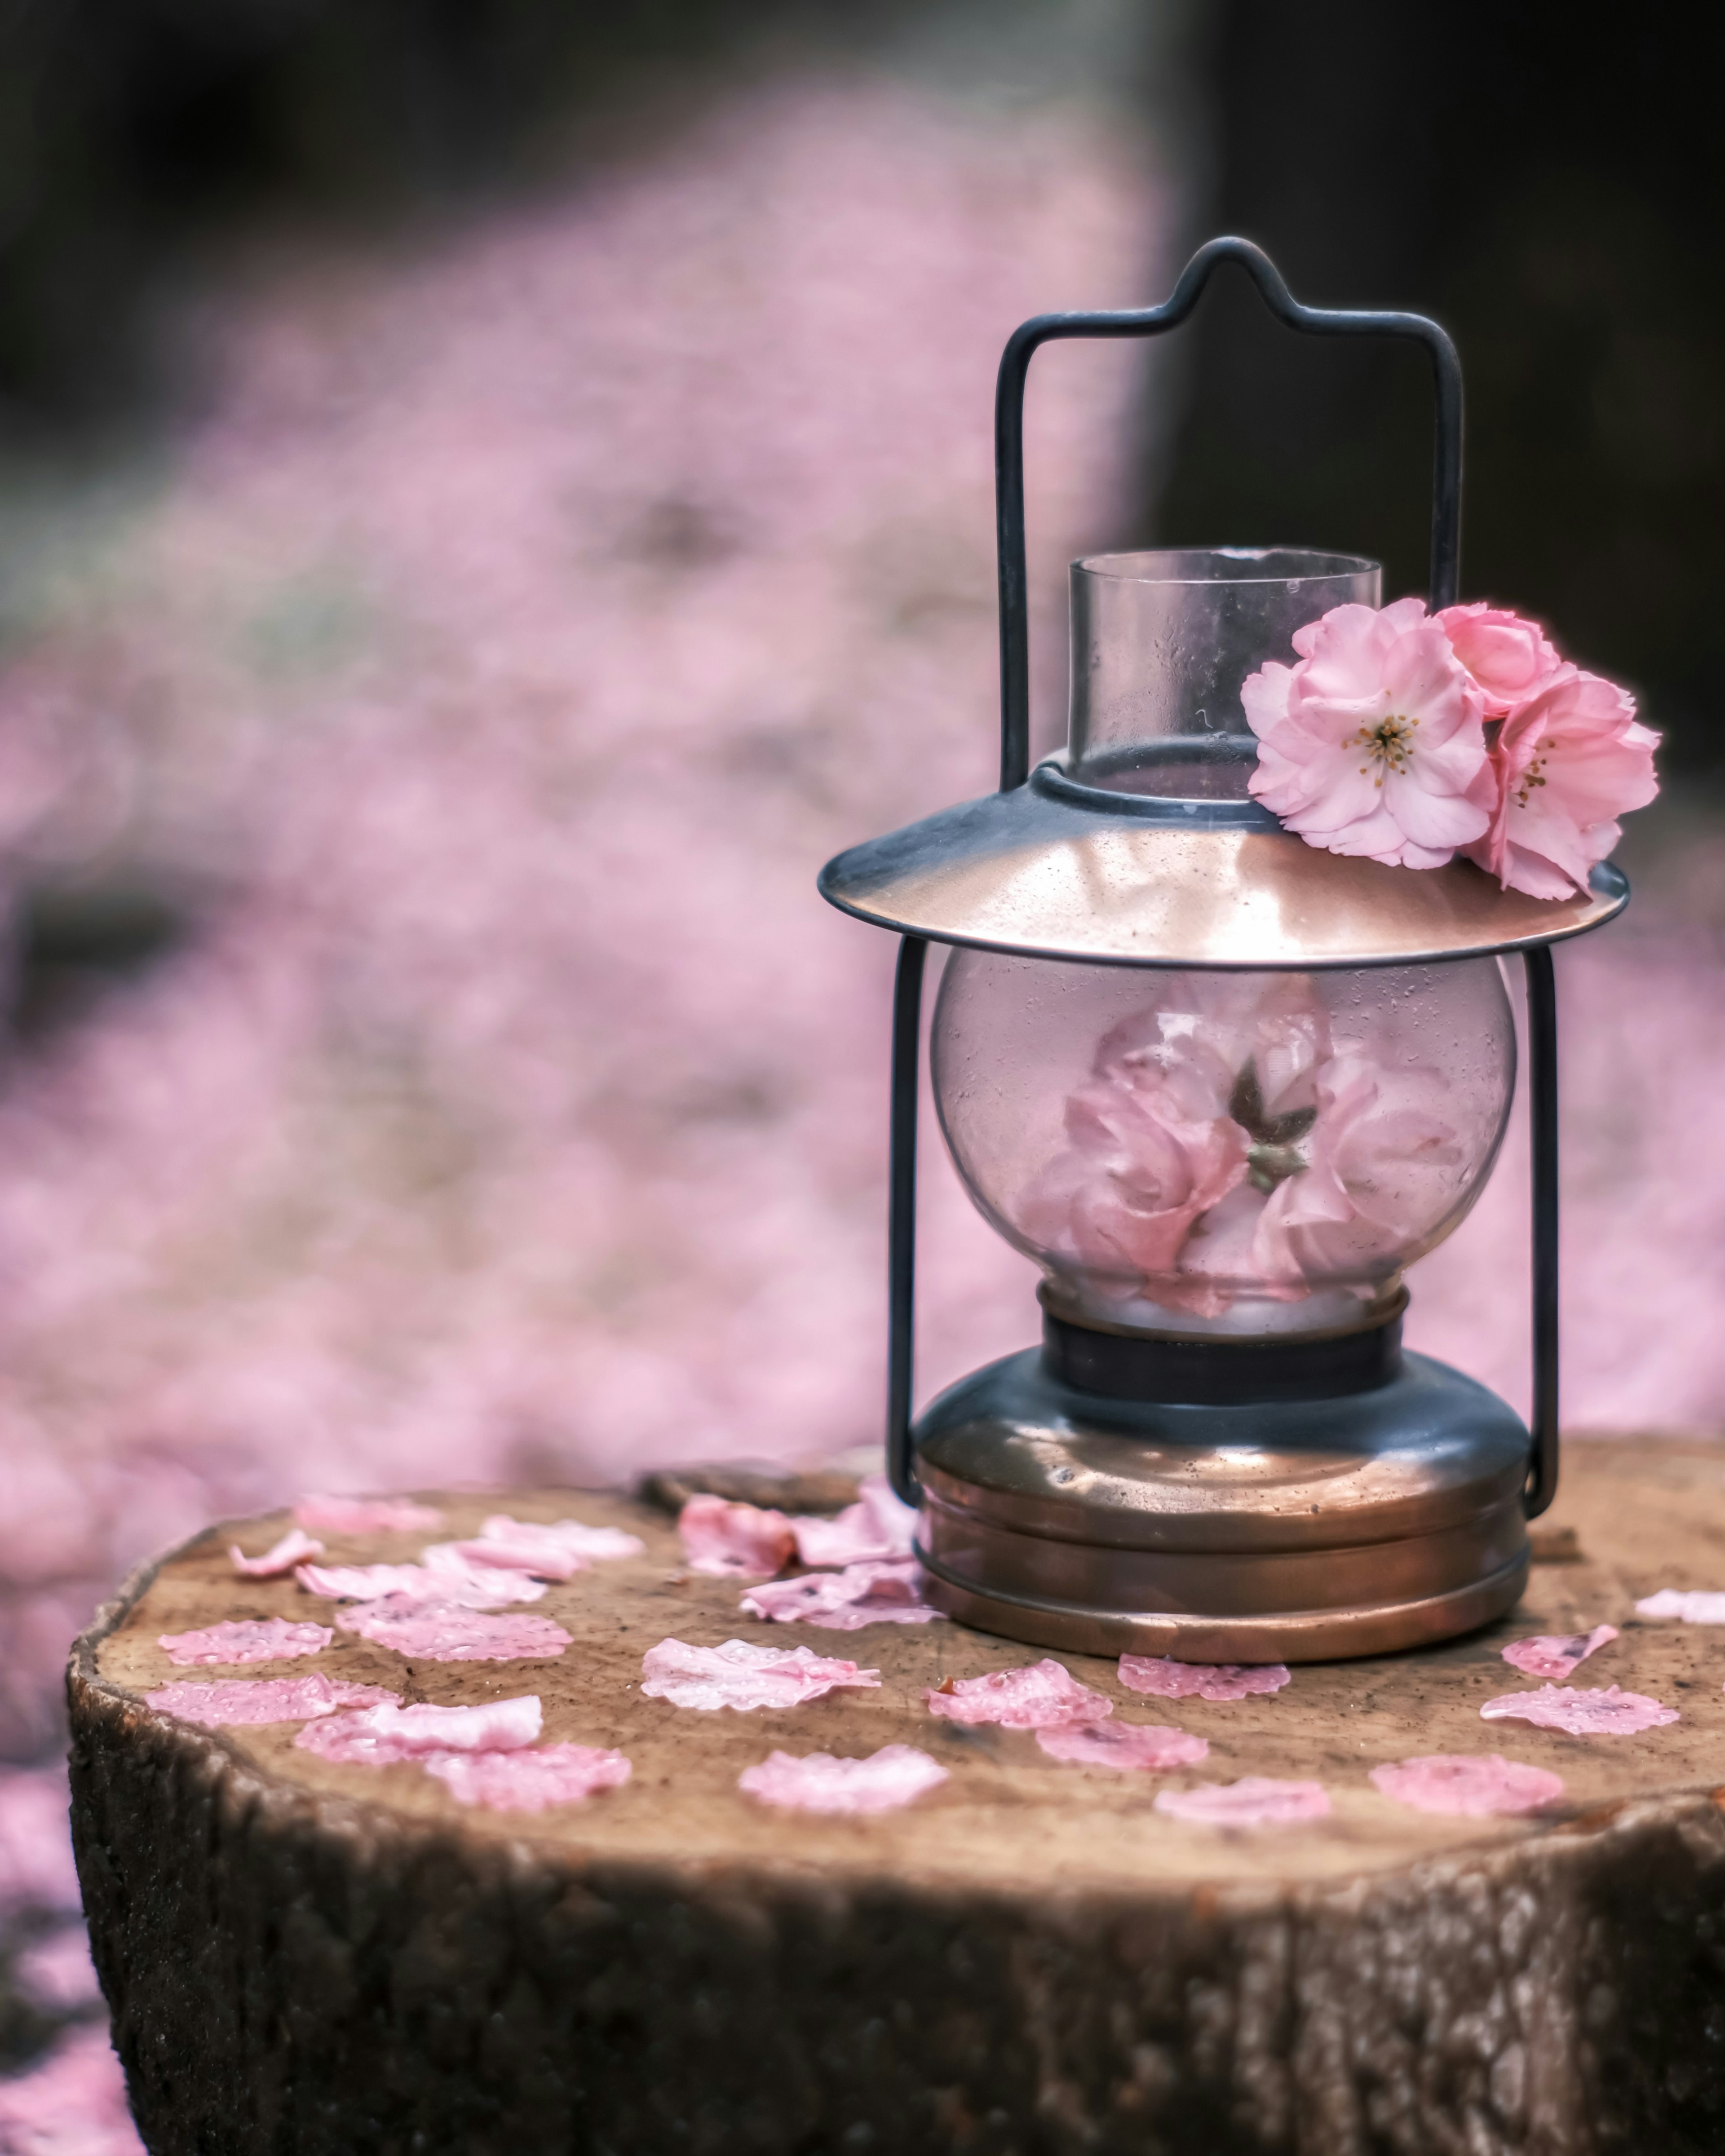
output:
[[[1432,612],[1453,606],[1462,561],[1462,362],[1449,332],[1425,315],[1302,306],[1251,239],[1208,239],[1179,272],[1162,306],[1087,315],[1033,315],[1007,338],[994,392],[994,505],[1000,573],[1000,791],[1031,774],[1031,625],[1024,567],[1024,384],[1039,345],[1080,336],[1160,336],[1192,313],[1218,263],[1236,261],[1270,313],[1315,336],[1406,336],[1432,360],[1436,440],[1432,461]],[[916,1503],[912,1447],[912,1345],[916,1287],[916,1095],[927,938],[899,940],[893,992],[893,1110],[888,1177],[886,1466],[893,1488]],[[1548,946],[1522,951],[1533,1134],[1533,1457],[1529,1518],[1557,1494],[1557,987]]]

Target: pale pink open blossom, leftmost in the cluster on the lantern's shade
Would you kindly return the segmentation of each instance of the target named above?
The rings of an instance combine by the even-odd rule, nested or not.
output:
[[[1335,606],[1240,688],[1251,791],[1309,845],[1440,869],[1490,826],[1486,699],[1421,599]]]

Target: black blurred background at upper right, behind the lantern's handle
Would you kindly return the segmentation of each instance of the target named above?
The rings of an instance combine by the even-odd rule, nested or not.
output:
[[[1466,369],[1462,595],[1634,681],[1667,772],[1721,765],[1725,17],[1552,0],[1233,0],[1208,47],[1212,222],[1317,304],[1436,315]],[[1244,289],[1195,328],[1156,528],[1374,554],[1425,589],[1419,354],[1287,336]]]

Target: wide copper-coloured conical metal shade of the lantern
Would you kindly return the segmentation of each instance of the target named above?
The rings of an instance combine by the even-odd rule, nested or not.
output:
[[[1628,903],[1600,865],[1578,899],[1501,890],[1471,862],[1324,854],[1255,802],[1076,787],[1050,765],[826,865],[843,912],[934,942],[1117,966],[1389,966],[1548,944]]]

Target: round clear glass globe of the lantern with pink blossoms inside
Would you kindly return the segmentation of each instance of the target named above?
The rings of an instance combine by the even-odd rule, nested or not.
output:
[[[934,1095],[983,1216],[1076,1324],[1369,1322],[1503,1141],[1496,959],[1162,972],[953,951]]]

